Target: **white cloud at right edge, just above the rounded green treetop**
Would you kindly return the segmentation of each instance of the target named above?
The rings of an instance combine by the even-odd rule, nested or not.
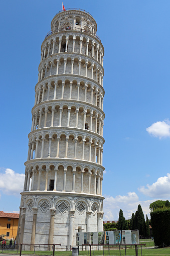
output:
[[[152,185],[147,184],[146,188],[141,186],[138,191],[151,198],[169,198],[170,197],[170,174],[160,177]]]

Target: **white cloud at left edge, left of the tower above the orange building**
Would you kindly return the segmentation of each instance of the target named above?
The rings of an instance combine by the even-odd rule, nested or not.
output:
[[[0,190],[7,195],[20,196],[24,186],[24,174],[17,174],[14,170],[7,168],[5,173],[0,171]]]

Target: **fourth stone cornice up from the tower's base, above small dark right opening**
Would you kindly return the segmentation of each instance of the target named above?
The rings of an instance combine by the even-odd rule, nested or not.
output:
[[[96,109],[98,110],[98,112],[102,113],[103,117],[105,118],[105,113],[103,110],[101,110],[99,107],[95,106],[94,104],[91,104],[89,102],[85,102],[85,101],[78,101],[78,100],[73,100],[73,99],[53,99],[53,100],[48,100],[48,101],[43,101],[43,102],[40,102],[39,104],[36,104],[33,108],[32,108],[32,115],[33,115],[33,112],[35,109],[37,108],[40,108],[41,106],[43,105],[49,105],[51,103],[77,103],[77,104],[82,104],[84,106],[90,106],[92,109]]]

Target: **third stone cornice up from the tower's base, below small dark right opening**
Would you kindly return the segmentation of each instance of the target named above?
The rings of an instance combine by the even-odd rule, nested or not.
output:
[[[80,128],[74,128],[74,127],[64,127],[64,126],[53,126],[53,127],[44,127],[44,128],[39,128],[37,130],[34,130],[32,132],[30,132],[28,134],[28,137],[30,138],[30,136],[32,136],[33,134],[39,133],[39,132],[43,132],[43,131],[57,131],[57,130],[61,130],[61,131],[68,131],[68,132],[81,132],[83,134],[89,134],[89,135],[93,135],[94,137],[98,137],[103,141],[103,144],[105,142],[104,138],[99,135],[98,133],[89,131],[89,130],[84,130],[84,129],[80,129]]]

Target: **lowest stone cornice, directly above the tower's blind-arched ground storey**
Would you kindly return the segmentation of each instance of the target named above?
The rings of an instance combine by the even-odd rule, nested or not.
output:
[[[55,195],[55,196],[79,196],[79,197],[83,197],[83,198],[92,198],[92,199],[102,199],[104,200],[103,196],[100,195],[93,195],[93,194],[86,194],[86,193],[77,193],[77,192],[62,192],[62,191],[44,191],[44,190],[35,190],[35,191],[23,191],[20,193],[22,196],[30,196],[30,195],[43,195],[43,196],[51,196],[51,195]]]

